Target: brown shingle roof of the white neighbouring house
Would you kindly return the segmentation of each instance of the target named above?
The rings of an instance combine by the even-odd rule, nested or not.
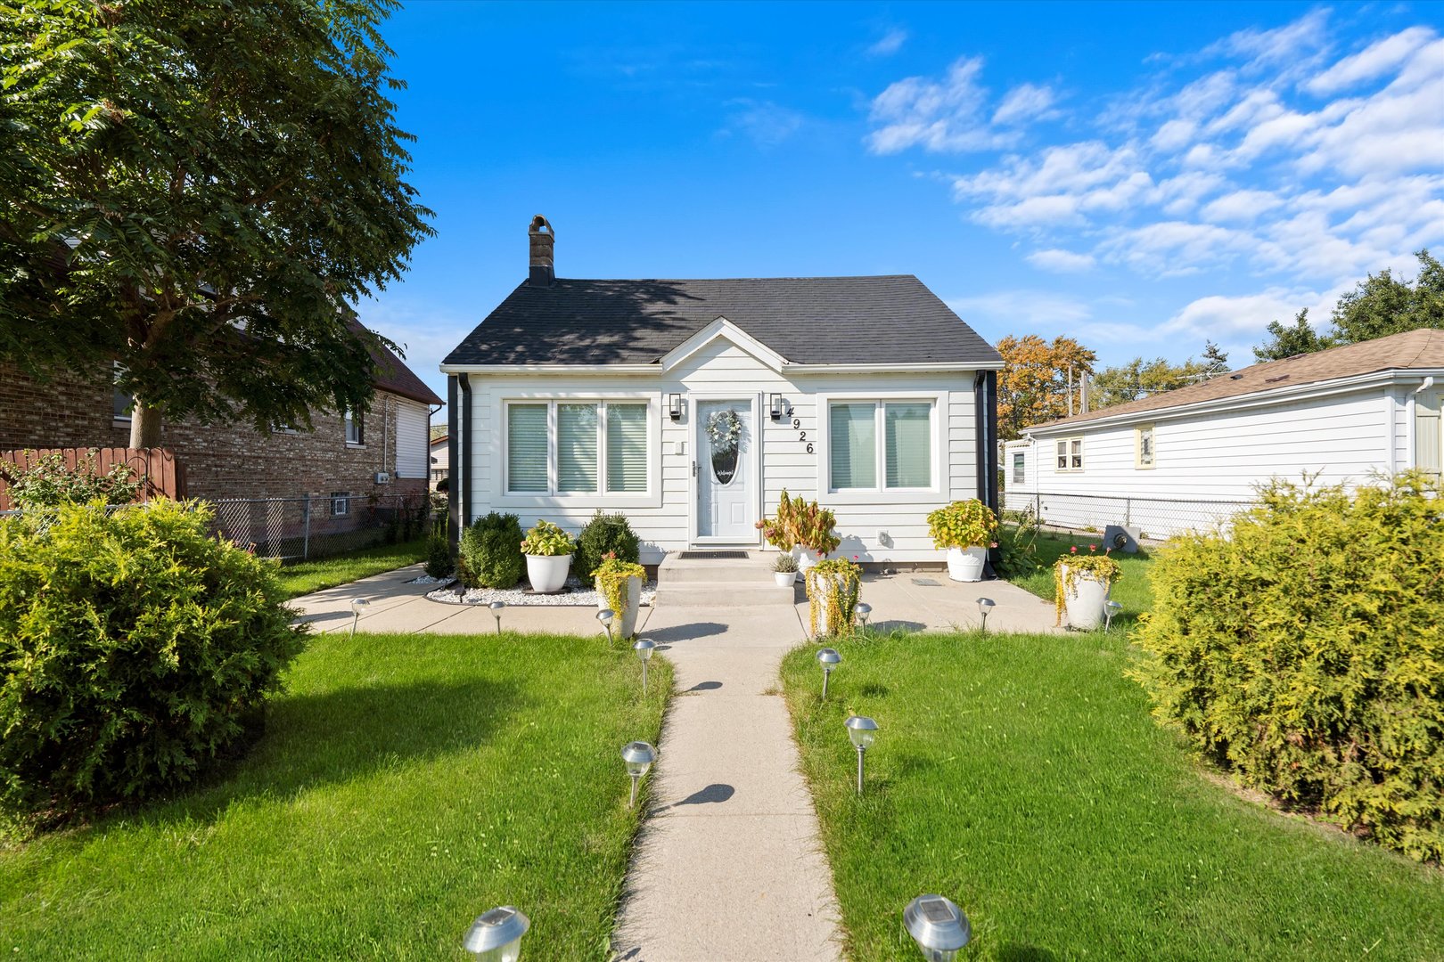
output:
[[[1161,394],[1152,394],[1138,401],[1115,404],[1099,408],[1087,414],[1074,414],[1070,418],[1034,424],[1027,428],[1041,430],[1084,424],[1100,418],[1110,418],[1126,414],[1148,414],[1149,411],[1164,411],[1184,404],[1201,404],[1203,401],[1222,401],[1225,398],[1240,398],[1249,394],[1264,394],[1282,388],[1297,388],[1302,384],[1317,384],[1320,381],[1336,381],[1339,378],[1353,378],[1379,371],[1411,371],[1444,368],[1444,330],[1408,330],[1402,335],[1389,335],[1373,340],[1360,340],[1356,345],[1328,348],[1314,353],[1294,355],[1282,361],[1266,361],[1233,374],[1219,375],[1201,384],[1190,384],[1184,388],[1174,388]]]

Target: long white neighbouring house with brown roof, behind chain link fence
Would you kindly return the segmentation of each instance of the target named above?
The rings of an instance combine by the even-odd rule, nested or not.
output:
[[[1004,500],[1056,525],[1165,535],[1232,513],[1272,477],[1438,472],[1441,398],[1444,330],[1258,363],[1028,428],[1004,446]]]

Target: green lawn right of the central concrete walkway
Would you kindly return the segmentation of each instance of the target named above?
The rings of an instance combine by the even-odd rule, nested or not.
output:
[[[1440,959],[1444,873],[1207,780],[1123,678],[1122,633],[843,640],[783,668],[853,962],[901,910],[970,916],[967,959]],[[843,718],[878,720],[866,795]]]

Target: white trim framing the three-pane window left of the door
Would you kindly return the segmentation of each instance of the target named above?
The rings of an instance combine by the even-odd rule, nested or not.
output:
[[[647,490],[630,493],[543,493],[507,490],[507,405],[543,404],[547,408],[547,489],[556,490],[556,405],[557,404],[618,404],[647,405]],[[490,405],[490,460],[492,466],[491,503],[511,509],[576,508],[660,508],[661,506],[661,395],[656,391],[570,391],[570,389],[494,389]],[[605,431],[598,440],[598,483],[606,483]]]

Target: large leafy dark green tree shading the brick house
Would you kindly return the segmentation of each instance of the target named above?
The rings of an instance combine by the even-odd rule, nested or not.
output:
[[[378,25],[394,0],[0,0],[0,361],[108,371],[162,418],[365,410],[351,306],[430,213]]]

